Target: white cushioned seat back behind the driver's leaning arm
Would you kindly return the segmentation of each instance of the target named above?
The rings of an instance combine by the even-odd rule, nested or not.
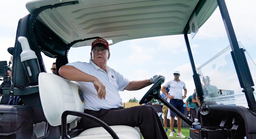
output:
[[[64,111],[84,112],[83,99],[75,82],[66,80],[52,73],[39,74],[39,93],[46,120],[52,126],[61,125]],[[77,117],[68,115],[67,123]]]

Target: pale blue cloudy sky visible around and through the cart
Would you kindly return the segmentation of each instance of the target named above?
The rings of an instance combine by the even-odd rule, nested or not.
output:
[[[7,48],[14,47],[18,20],[29,14],[25,7],[25,3],[28,1],[1,1],[0,61],[9,61],[10,54],[7,52]],[[254,7],[256,2],[254,0],[226,0],[226,4],[237,40],[241,41],[251,59],[256,61],[256,9]],[[217,32],[217,35],[212,32]],[[189,38],[191,38],[190,35]],[[199,67],[229,45],[218,8],[205,25],[199,28],[191,42],[193,43],[191,48],[196,67]],[[185,82],[188,89],[187,96],[192,95],[195,89],[183,35],[123,41],[111,45],[110,53],[108,66],[119,71],[129,80],[144,80],[159,74],[165,76],[166,80],[172,80],[172,72],[179,70],[180,80]],[[89,54],[90,47],[71,48],[69,62],[88,62]],[[50,68],[55,59],[44,55],[43,59],[47,72],[51,73]],[[251,73],[254,78],[256,73],[254,68],[251,69]],[[221,80],[224,77],[218,78]],[[120,95],[123,102],[127,102],[134,97],[140,100],[150,87],[139,91],[120,91]]]

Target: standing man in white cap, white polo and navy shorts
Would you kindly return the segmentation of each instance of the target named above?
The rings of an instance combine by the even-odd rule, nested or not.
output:
[[[173,72],[173,76],[174,79],[170,80],[168,82],[166,82],[162,88],[161,91],[168,97],[170,98],[170,104],[173,105],[178,111],[180,111],[181,113],[184,114],[184,102],[183,99],[185,99],[187,97],[187,89],[186,89],[186,85],[185,82],[180,80],[180,71],[174,71]],[[169,93],[167,94],[165,89],[169,87]],[[184,90],[184,95],[182,95],[182,89]],[[170,112],[170,137],[173,137],[173,125],[174,125],[174,118],[175,116],[177,116],[174,112]],[[181,137],[181,138],[186,138],[186,136],[184,136],[181,133],[181,118],[178,117],[177,120],[177,126],[178,126],[178,134],[177,137]]]

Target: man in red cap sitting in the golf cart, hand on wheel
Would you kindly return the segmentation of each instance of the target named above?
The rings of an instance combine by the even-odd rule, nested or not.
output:
[[[76,81],[82,91],[85,100],[84,112],[98,117],[108,125],[137,126],[145,139],[168,139],[153,107],[141,105],[124,109],[118,92],[142,89],[163,76],[136,81],[124,78],[119,72],[107,66],[110,58],[109,44],[101,37],[92,42],[90,54],[89,63],[68,63],[59,70],[62,77]],[[88,129],[98,126],[97,123],[82,119],[77,128]]]

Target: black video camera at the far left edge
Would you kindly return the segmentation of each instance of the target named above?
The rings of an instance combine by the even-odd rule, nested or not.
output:
[[[4,81],[9,81],[10,77],[8,75],[8,70],[12,71],[10,67],[11,61],[9,61],[9,65],[7,65],[7,61],[0,61],[0,78],[4,78]],[[0,79],[2,80],[2,79]]]

